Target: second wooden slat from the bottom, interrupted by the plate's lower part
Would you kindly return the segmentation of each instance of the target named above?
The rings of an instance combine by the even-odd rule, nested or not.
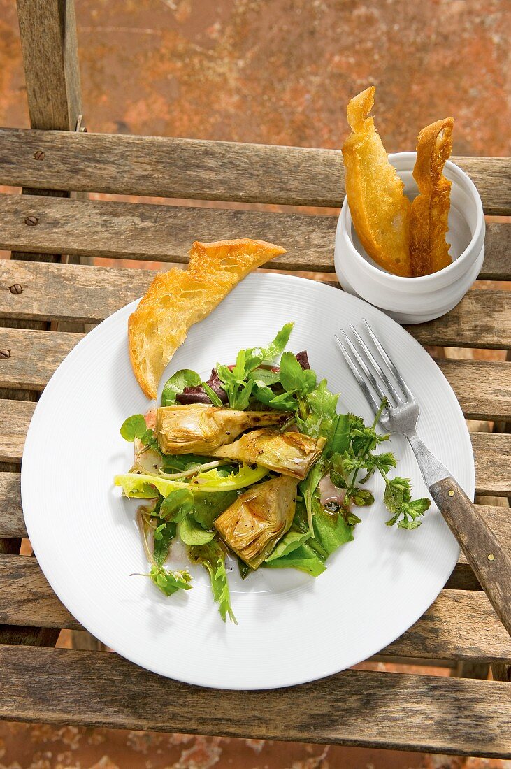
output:
[[[81,627],[51,590],[35,558],[20,555],[0,555],[0,622]],[[483,592],[450,590],[381,653],[511,664],[511,638]]]

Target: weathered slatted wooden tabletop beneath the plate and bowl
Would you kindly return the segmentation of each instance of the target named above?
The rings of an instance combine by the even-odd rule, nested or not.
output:
[[[476,182],[486,214],[511,214],[509,160],[454,160]],[[332,273],[343,198],[340,152],[5,129],[0,184],[24,191],[0,196],[0,248],[18,252],[0,267],[0,717],[511,756],[511,638],[464,558],[433,606],[378,658],[451,668],[464,663],[469,677],[353,670],[247,694],[178,684],[107,651],[53,648],[61,628],[80,626],[35,558],[19,554],[26,537],[19,464],[34,401],[83,335],[62,330],[63,324],[76,329],[79,323],[83,331],[83,324],[98,323],[141,295],[154,276],[68,264],[60,255],[185,261],[196,238],[250,236],[287,249],[272,269]],[[173,200],[61,196],[68,191]],[[222,201],[237,206],[225,208]],[[275,204],[285,212],[272,210]],[[479,278],[511,278],[510,232],[511,225],[489,223]],[[48,261],[29,255],[47,255]],[[449,315],[409,330],[436,348],[509,349],[511,293],[505,286],[483,291],[476,285]],[[466,418],[505,428],[511,422],[511,362],[501,358],[460,354],[438,363]],[[495,503],[511,494],[511,438],[505,431],[476,431],[472,440],[477,494],[493,502],[481,511],[509,547],[511,514]],[[470,677],[488,665],[500,680]]]

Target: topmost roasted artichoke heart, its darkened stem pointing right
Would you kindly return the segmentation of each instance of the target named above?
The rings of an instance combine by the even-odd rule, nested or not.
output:
[[[249,428],[287,419],[286,411],[234,411],[201,403],[162,406],[156,411],[156,436],[164,454],[211,454]]]

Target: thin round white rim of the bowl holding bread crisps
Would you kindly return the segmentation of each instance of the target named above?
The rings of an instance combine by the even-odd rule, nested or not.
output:
[[[393,160],[411,160],[412,158],[416,158],[416,152],[393,152],[388,155],[388,158],[390,162],[392,163]],[[343,236],[343,240],[345,241],[347,248],[350,250],[350,252],[355,255],[355,259],[357,260],[360,267],[364,270],[367,270],[370,275],[374,275],[375,277],[379,278],[380,281],[390,281],[396,282],[397,285],[417,285],[418,281],[421,281],[423,284],[425,283],[431,283],[433,281],[438,281],[440,279],[440,276],[442,278],[445,275],[448,275],[449,271],[453,271],[453,268],[457,268],[456,271],[460,270],[460,265],[462,261],[466,261],[466,256],[469,254],[470,251],[473,250],[474,245],[476,244],[476,241],[481,235],[481,231],[484,228],[484,212],[483,212],[483,201],[481,200],[481,196],[479,195],[479,191],[476,188],[476,185],[473,183],[472,179],[468,174],[466,174],[465,171],[463,171],[463,168],[460,168],[459,165],[456,165],[456,163],[453,163],[453,161],[446,161],[446,168],[450,168],[453,170],[453,174],[456,176],[456,174],[459,174],[460,177],[465,181],[466,185],[468,186],[470,193],[472,194],[473,200],[476,202],[476,209],[477,209],[477,219],[476,219],[476,226],[474,228],[474,234],[470,240],[469,245],[467,245],[465,251],[463,251],[460,256],[452,261],[450,265],[447,265],[447,267],[443,267],[441,270],[437,270],[436,272],[431,272],[430,275],[416,275],[416,276],[405,276],[405,275],[394,275],[392,272],[389,272],[388,270],[385,270],[383,268],[377,268],[374,265],[371,265],[369,261],[363,258],[363,256],[360,254],[360,251],[355,247],[352,238],[350,237],[349,231],[350,228],[347,226],[348,222],[353,225],[353,218],[351,217],[351,211],[350,211],[350,205],[348,203],[347,195],[344,196],[343,205],[340,209],[340,232]],[[396,169],[397,170],[397,169]],[[400,169],[401,171],[412,171],[413,168],[403,168]],[[399,174],[399,171],[398,171]],[[354,225],[353,225],[354,227]]]

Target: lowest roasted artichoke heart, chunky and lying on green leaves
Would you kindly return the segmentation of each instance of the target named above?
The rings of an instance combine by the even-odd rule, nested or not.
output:
[[[241,494],[216,521],[224,542],[257,569],[290,528],[298,481],[280,475]]]

